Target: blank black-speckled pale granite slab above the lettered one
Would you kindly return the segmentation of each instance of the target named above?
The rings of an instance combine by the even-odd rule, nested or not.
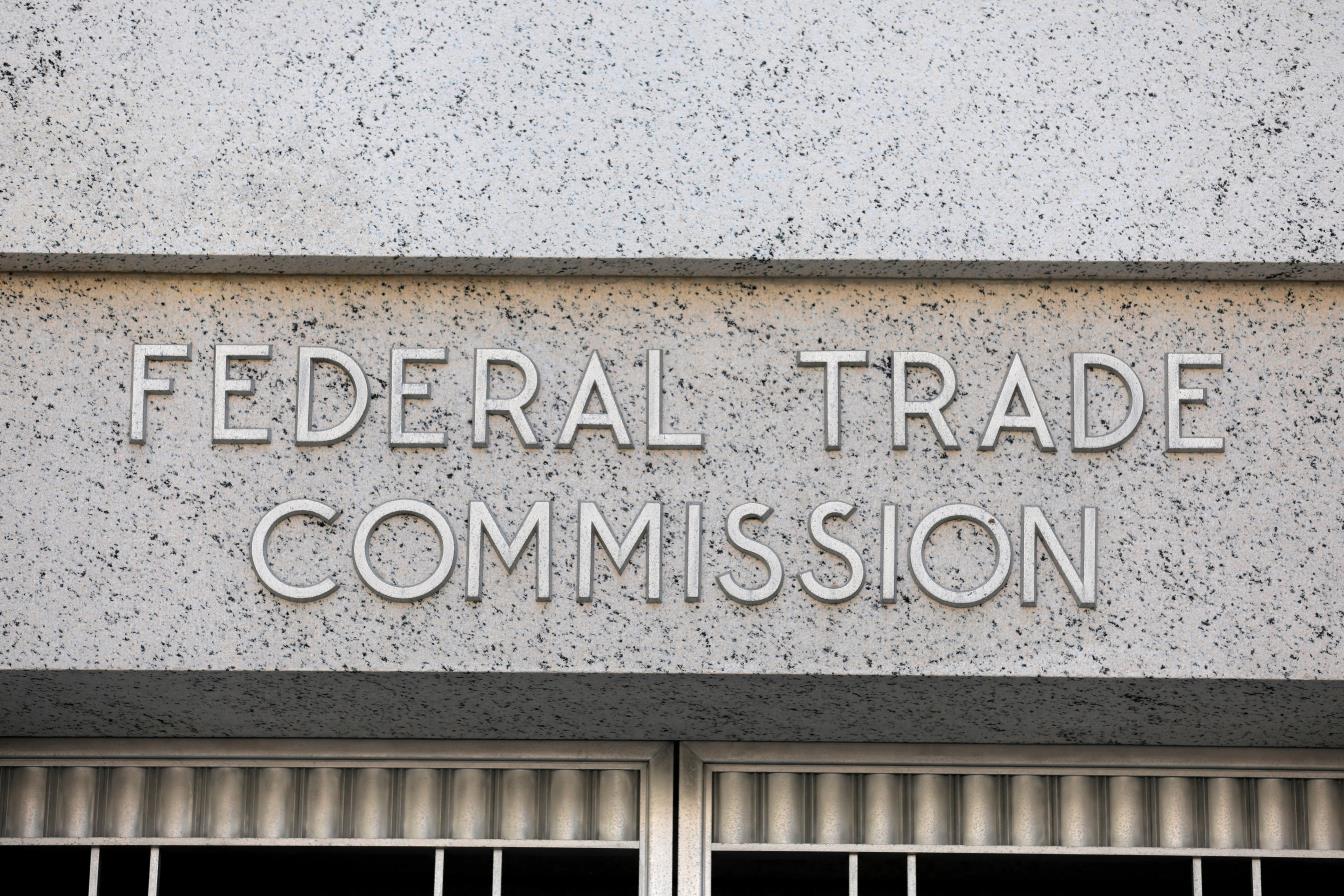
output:
[[[26,3],[0,266],[1339,277],[1344,8]]]

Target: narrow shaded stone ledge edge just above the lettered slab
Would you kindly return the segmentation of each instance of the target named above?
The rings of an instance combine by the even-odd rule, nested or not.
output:
[[[1339,281],[1344,279],[1344,261],[449,258],[435,255],[0,253],[0,271],[73,274]]]

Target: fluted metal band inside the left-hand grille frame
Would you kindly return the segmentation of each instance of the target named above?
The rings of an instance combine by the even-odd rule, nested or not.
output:
[[[629,768],[16,766],[0,795],[16,838],[640,838]]]

